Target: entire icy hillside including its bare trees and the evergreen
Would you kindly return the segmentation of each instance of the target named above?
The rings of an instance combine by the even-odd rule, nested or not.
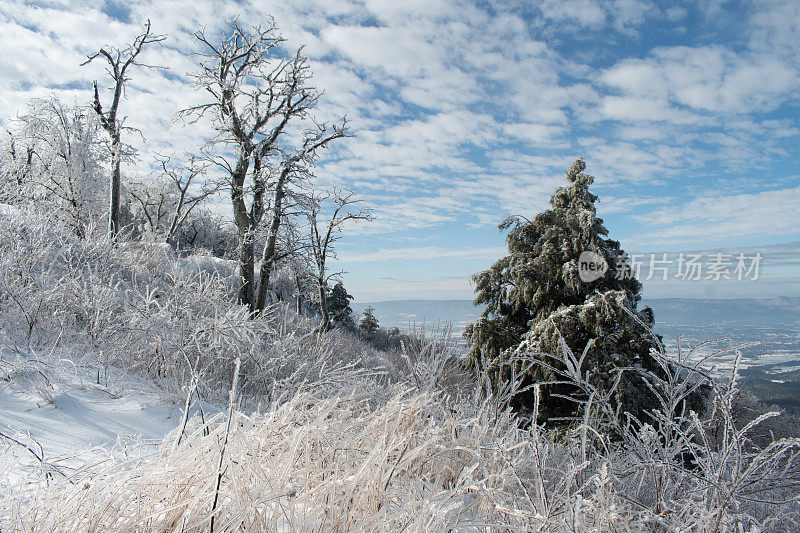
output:
[[[553,209],[501,224],[465,359],[447,330],[356,324],[331,263],[372,215],[314,174],[351,132],[315,120],[271,19],[193,34],[180,116],[205,141],[123,173],[121,95],[165,38],[100,48],[112,93],[31,101],[4,137],[0,530],[800,527],[796,426],[740,393],[740,352],[712,375],[719,352],[653,335],[630,272],[581,279],[578,254],[624,256],[581,159]]]

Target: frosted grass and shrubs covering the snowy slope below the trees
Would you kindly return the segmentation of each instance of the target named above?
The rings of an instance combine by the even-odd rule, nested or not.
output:
[[[582,420],[523,424],[447,339],[250,319],[224,260],[2,216],[3,531],[797,527],[800,440],[737,419],[735,369],[682,412],[703,371],[655,353],[661,409],[620,425],[566,350]]]

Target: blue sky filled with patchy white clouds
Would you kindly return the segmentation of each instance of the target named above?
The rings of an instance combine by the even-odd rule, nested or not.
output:
[[[346,115],[355,134],[317,176],[373,207],[376,220],[339,247],[359,301],[470,298],[469,275],[504,252],[497,224],[545,209],[577,156],[611,236],[645,263],[763,256],[757,281],[670,271],[646,296],[800,296],[796,0],[131,4],[3,0],[3,126],[31,98],[88,102],[103,68],[80,63],[149,18],[167,40],[145,60],[169,70],[132,72],[123,103],[144,137],[131,139],[139,161],[126,172],[144,175],[156,152],[196,151],[208,137],[172,120],[203,98],[186,76],[192,32],[272,15],[312,60],[325,91],[317,117]]]

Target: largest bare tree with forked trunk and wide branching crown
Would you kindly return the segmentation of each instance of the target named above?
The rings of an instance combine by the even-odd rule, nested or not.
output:
[[[213,121],[217,134],[205,153],[229,180],[239,236],[239,301],[258,312],[264,308],[270,269],[276,262],[287,191],[309,175],[318,150],[347,135],[346,122],[313,123],[299,140],[289,135],[290,125],[302,125],[309,118],[320,93],[309,85],[311,72],[302,49],[294,55],[275,53],[284,39],[274,21],[249,30],[238,21],[230,22],[221,41],[204,31],[195,37],[204,49],[195,81],[210,101],[183,114],[194,120],[209,114]],[[216,146],[221,153],[214,151]],[[256,290],[255,233],[266,211],[269,227]]]

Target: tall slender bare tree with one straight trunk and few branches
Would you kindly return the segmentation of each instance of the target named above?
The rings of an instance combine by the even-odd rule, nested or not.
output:
[[[155,67],[153,65],[146,65],[137,62],[137,57],[142,49],[153,43],[160,43],[166,36],[155,35],[150,31],[150,19],[144,25],[144,31],[136,36],[133,44],[124,49],[116,47],[103,47],[100,50],[89,56],[81,66],[91,63],[95,58],[102,57],[108,63],[107,72],[114,82],[114,92],[111,97],[111,105],[107,110],[103,110],[100,104],[100,94],[97,89],[97,82],[94,82],[94,101],[93,107],[97,118],[100,120],[100,125],[108,133],[110,138],[110,152],[111,152],[111,179],[110,179],[110,198],[109,198],[109,215],[108,215],[108,231],[112,238],[117,236],[119,232],[119,213],[120,213],[120,188],[122,177],[120,174],[120,165],[122,163],[124,147],[122,144],[121,132],[124,129],[123,119],[118,118],[119,102],[125,94],[125,84],[130,81],[127,76],[128,68],[131,66],[143,66],[148,68],[163,68]]]

